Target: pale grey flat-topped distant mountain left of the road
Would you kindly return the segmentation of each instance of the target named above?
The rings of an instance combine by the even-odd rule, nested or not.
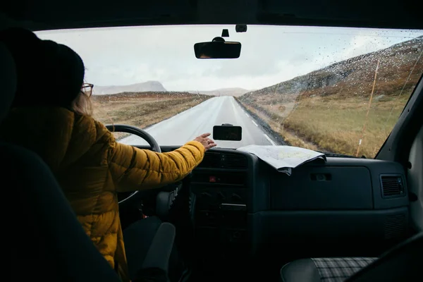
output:
[[[97,86],[93,88],[96,95],[116,94],[122,92],[166,92],[167,90],[158,81],[147,81],[131,85]]]

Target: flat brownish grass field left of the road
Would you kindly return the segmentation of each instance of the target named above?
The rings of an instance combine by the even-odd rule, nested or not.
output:
[[[164,121],[212,96],[185,92],[140,92],[93,95],[94,118],[105,124],[123,123],[138,128]],[[123,137],[123,134],[115,134]]]

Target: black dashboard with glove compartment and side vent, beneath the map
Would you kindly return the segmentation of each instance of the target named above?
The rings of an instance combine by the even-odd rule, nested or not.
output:
[[[190,188],[197,241],[240,256],[380,255],[408,228],[405,171],[391,161],[327,157],[288,176],[255,155],[211,149]]]

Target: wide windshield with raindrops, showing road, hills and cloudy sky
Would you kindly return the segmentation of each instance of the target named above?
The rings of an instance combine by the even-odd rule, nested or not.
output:
[[[238,59],[197,59],[228,29]],[[36,32],[74,49],[94,84],[94,118],[183,145],[214,125],[218,147],[292,145],[374,157],[423,73],[423,30],[180,25]],[[120,142],[146,145],[139,137]]]

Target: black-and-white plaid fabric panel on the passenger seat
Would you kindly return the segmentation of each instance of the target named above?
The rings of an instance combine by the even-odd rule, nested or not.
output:
[[[319,257],[313,258],[321,281],[341,282],[374,262],[377,257]]]

